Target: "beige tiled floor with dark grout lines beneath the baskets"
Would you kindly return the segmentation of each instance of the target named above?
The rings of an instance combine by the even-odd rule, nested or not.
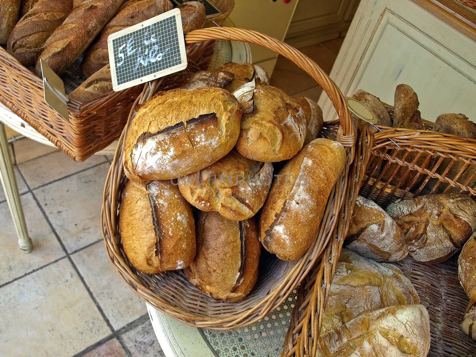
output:
[[[301,49],[330,71],[341,39]],[[272,85],[317,100],[306,73],[279,58]],[[0,190],[0,356],[163,356],[145,303],[109,263],[99,212],[109,159],[78,163],[20,139],[15,172],[33,251],[17,247]]]

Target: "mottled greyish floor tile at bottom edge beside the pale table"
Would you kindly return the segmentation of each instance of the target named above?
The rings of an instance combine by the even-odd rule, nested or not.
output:
[[[165,357],[149,318],[121,337],[132,357]]]

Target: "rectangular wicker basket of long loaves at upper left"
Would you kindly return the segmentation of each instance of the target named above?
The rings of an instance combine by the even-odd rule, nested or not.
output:
[[[214,41],[187,46],[188,71],[207,69]],[[67,92],[81,80],[80,61],[65,73]],[[171,77],[169,81],[173,82]],[[83,161],[104,149],[124,129],[132,103],[142,86],[110,92],[87,103],[70,99],[69,120],[50,108],[43,97],[43,81],[0,47],[0,101],[25,120],[59,149],[77,161]]]

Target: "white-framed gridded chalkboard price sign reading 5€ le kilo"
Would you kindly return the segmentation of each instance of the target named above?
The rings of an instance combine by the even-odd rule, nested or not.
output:
[[[115,91],[187,68],[180,10],[109,35],[108,50]]]

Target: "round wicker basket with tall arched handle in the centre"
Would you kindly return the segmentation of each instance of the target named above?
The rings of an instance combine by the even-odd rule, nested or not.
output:
[[[126,182],[122,169],[123,139],[129,128],[130,119],[134,115],[134,110],[131,110],[129,122],[119,139],[104,188],[102,228],[109,258],[127,285],[160,311],[191,326],[226,329],[250,324],[278,307],[321,256],[337,228],[337,222],[341,221],[341,208],[347,192],[348,171],[354,158],[355,128],[351,125],[345,99],[340,90],[316,63],[298,50],[250,30],[210,28],[192,31],[186,35],[188,43],[210,39],[247,41],[261,45],[275,50],[306,70],[323,87],[337,109],[340,127],[337,129],[336,126],[329,136],[337,138],[345,146],[347,153],[344,172],[330,194],[317,239],[305,255],[296,261],[285,262],[274,255],[263,253],[260,258],[258,282],[250,294],[240,302],[215,301],[188,283],[181,271],[169,271],[157,275],[142,274],[133,268],[124,254],[118,231],[118,218],[121,192]],[[147,86],[135,105],[149,99],[156,88],[157,82],[153,82],[150,88]]]

